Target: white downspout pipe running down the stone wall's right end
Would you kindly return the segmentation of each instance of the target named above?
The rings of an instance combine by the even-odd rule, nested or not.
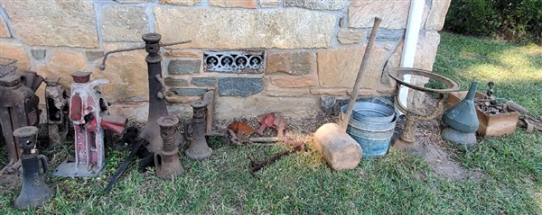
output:
[[[414,67],[414,57],[416,56],[416,45],[420,34],[422,24],[422,14],[424,13],[425,0],[411,0],[408,21],[406,22],[405,45],[403,46],[403,55],[401,56],[401,67]],[[410,83],[410,75],[406,75],[404,81]],[[398,92],[399,103],[407,107],[408,88],[401,85]]]

